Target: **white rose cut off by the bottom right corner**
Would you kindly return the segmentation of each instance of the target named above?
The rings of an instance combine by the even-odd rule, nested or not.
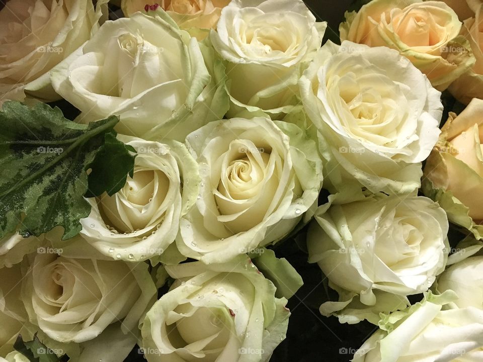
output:
[[[483,311],[441,310],[453,299],[426,296],[422,303],[392,313],[355,353],[353,362],[478,362],[483,360]]]

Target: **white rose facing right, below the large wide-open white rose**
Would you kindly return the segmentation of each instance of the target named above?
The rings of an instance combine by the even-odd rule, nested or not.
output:
[[[425,197],[375,195],[321,206],[307,234],[309,262],[318,263],[339,293],[320,313],[341,322],[377,324],[379,312],[428,290],[447,260],[448,219]]]

